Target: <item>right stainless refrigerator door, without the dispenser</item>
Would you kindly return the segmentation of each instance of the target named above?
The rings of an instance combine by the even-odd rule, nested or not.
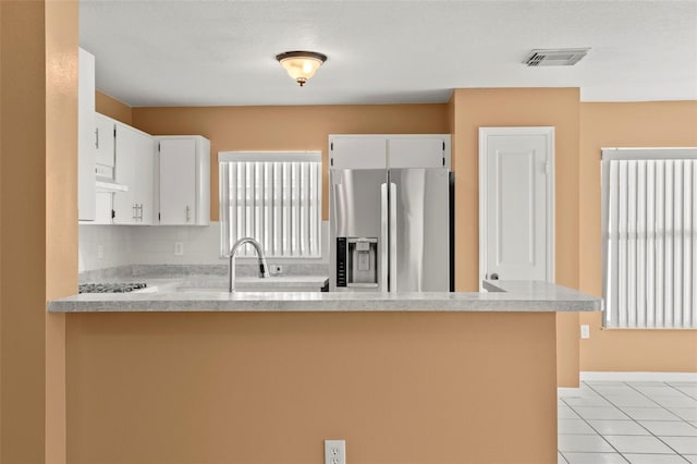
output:
[[[450,290],[449,170],[390,169],[391,292]],[[391,221],[391,222],[392,222]]]

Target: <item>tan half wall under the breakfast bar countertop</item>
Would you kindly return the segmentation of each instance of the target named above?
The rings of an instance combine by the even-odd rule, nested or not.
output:
[[[551,313],[68,319],[73,464],[557,462]]]

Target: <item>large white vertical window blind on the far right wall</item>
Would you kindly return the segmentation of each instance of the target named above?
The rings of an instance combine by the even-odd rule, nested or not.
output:
[[[604,326],[697,328],[697,148],[603,149]]]

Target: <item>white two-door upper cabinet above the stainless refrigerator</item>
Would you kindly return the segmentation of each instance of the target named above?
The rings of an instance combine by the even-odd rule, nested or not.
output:
[[[332,169],[450,169],[450,135],[330,135],[329,152]]]

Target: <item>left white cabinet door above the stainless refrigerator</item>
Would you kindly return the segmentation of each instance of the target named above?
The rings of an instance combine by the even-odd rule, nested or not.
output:
[[[387,138],[379,135],[330,135],[332,169],[387,168]]]

